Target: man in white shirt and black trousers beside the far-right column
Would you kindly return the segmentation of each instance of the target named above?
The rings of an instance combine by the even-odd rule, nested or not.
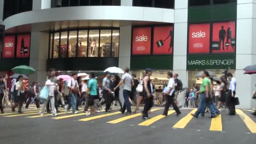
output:
[[[237,82],[235,77],[233,77],[232,73],[228,73],[227,77],[229,78],[229,97],[228,97],[228,107],[229,107],[229,115],[235,115],[235,90]]]

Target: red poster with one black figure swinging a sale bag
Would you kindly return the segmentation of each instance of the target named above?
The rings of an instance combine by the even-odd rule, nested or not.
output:
[[[172,54],[173,38],[173,27],[154,27],[153,54]]]

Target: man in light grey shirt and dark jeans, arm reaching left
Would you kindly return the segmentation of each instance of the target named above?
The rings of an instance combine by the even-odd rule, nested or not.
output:
[[[126,114],[131,114],[131,103],[129,101],[129,97],[132,95],[131,93],[131,87],[134,85],[133,83],[133,78],[131,77],[131,75],[128,73],[129,72],[129,68],[126,67],[124,69],[125,74],[122,76],[122,80],[120,81],[120,83],[114,88],[114,91],[120,87],[120,85],[123,84],[123,97],[125,99],[125,102],[123,104],[123,108],[122,108],[122,113],[125,113],[125,109],[127,107],[127,113]]]

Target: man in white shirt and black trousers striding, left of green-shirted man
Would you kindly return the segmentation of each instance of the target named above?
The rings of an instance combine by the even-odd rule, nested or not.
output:
[[[179,116],[181,114],[179,108],[177,107],[176,103],[174,103],[173,98],[175,96],[175,82],[173,79],[173,73],[168,72],[167,77],[169,79],[167,90],[165,91],[165,110],[163,111],[163,115],[168,115],[168,110],[170,107],[170,104],[173,106],[173,109],[176,111],[176,116]]]

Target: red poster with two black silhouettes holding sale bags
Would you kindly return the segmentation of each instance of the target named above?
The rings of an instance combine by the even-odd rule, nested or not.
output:
[[[213,23],[212,53],[235,53],[235,21]]]

